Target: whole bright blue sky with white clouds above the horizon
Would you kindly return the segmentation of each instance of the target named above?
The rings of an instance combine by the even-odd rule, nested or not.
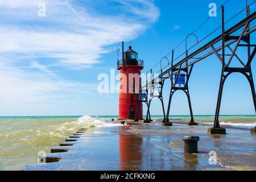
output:
[[[115,47],[131,43],[146,72],[209,17],[211,2],[220,7],[225,1],[0,0],[0,115],[117,115],[118,93],[97,92],[97,76],[116,69]],[[46,5],[45,17],[38,16],[39,3]],[[243,8],[245,1],[229,0],[226,20]],[[217,11],[195,33],[201,40],[220,24]],[[195,41],[189,38],[188,47]],[[175,55],[184,49],[181,44]],[[255,72],[255,61],[251,66]],[[189,82],[194,114],[214,114],[220,72],[214,55],[195,65]],[[167,81],[166,106],[169,92]],[[249,84],[238,73],[226,81],[222,98],[221,114],[255,114]],[[160,101],[152,102],[151,114],[162,114]],[[171,114],[189,114],[184,93],[176,92]]]

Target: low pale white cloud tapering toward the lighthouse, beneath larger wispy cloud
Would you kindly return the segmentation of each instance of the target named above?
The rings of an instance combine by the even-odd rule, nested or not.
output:
[[[43,65],[36,63],[32,67],[49,72]],[[51,73],[51,72],[49,72]],[[59,98],[76,98],[90,94],[96,89],[94,84],[83,84],[81,82],[70,82],[65,80],[54,80],[46,77],[43,73],[23,71],[10,64],[0,64],[0,107],[12,104],[43,105],[47,101],[57,101]],[[26,107],[26,105],[23,105]],[[10,108],[6,108],[10,109]]]

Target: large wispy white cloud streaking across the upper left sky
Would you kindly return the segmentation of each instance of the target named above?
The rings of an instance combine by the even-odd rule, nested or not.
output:
[[[53,58],[55,63],[69,68],[77,67],[77,64],[84,68],[98,63],[102,53],[106,52],[105,47],[136,38],[159,16],[152,1],[118,1],[126,10],[123,16],[126,12],[139,17],[129,19],[129,16],[90,15],[82,11],[85,7],[75,10],[76,5],[67,0],[44,0],[47,17],[43,18],[37,14],[40,2],[0,0],[0,15],[9,17],[9,22],[15,19],[15,23],[0,21],[2,53],[33,53],[34,56]]]

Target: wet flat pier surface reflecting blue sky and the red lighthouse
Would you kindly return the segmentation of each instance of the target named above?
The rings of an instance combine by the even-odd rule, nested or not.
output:
[[[90,127],[53,147],[47,163],[24,170],[256,170],[255,134],[229,128],[227,135],[208,135],[208,128],[160,122]],[[200,137],[198,154],[184,154],[186,135]]]

